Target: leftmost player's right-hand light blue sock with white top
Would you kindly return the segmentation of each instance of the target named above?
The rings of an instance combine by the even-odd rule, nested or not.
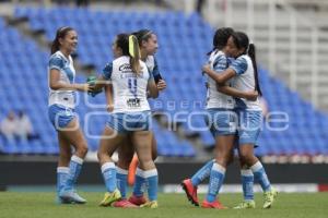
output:
[[[70,172],[67,178],[66,187],[65,190],[72,190],[74,187],[74,184],[78,181],[78,178],[80,175],[81,169],[82,169],[83,159],[73,155],[71,157],[70,161]]]

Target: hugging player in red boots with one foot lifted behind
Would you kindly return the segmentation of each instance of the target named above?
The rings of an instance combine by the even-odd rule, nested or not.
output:
[[[214,49],[210,52],[209,65],[215,74],[220,74],[229,66],[225,46],[232,34],[232,28],[220,28],[213,37]],[[257,96],[255,92],[243,93],[234,88],[227,88],[234,97],[253,99]],[[235,107],[234,99],[219,90],[220,87],[218,87],[216,82],[209,77],[207,95],[207,111],[209,114],[206,117],[206,121],[215,137],[215,159],[207,162],[191,179],[184,180],[181,185],[189,201],[198,206],[197,185],[210,175],[209,194],[203,201],[202,207],[222,209],[225,207],[216,201],[216,194],[223,183],[225,168],[233,152],[236,116],[233,111]]]

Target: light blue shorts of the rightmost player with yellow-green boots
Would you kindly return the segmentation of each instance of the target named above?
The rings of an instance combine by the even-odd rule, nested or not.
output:
[[[261,131],[262,112],[258,110],[237,110],[239,145],[257,144]]]

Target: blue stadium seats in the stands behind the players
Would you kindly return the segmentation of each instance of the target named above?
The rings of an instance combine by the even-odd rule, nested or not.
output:
[[[51,9],[17,7],[14,16],[27,17],[31,29],[45,31],[49,41],[55,37],[54,29],[63,25],[73,26],[80,34],[79,61],[82,64],[95,64],[98,72],[113,58],[110,45],[115,33],[149,27],[159,36],[161,49],[157,53],[157,61],[163,77],[168,83],[167,89],[159,98],[163,102],[161,109],[171,114],[181,110],[190,113],[203,109],[201,106],[195,107],[192,102],[204,100],[206,88],[200,68],[206,61],[208,49],[211,48],[213,29],[196,13],[190,15],[181,12],[154,14],[126,11],[103,12],[61,7]],[[31,144],[3,144],[0,149],[9,154],[58,154],[56,134],[48,122],[46,107],[48,89],[46,66],[49,53],[42,51],[35,43],[24,39],[16,29],[5,26],[1,17],[0,31],[0,56],[3,62],[0,64],[0,80],[7,90],[4,95],[0,93],[1,110],[9,111],[13,107],[24,109],[33,119],[35,129],[40,131],[40,141]],[[269,110],[289,113],[290,128],[280,132],[263,130],[259,138],[260,147],[256,149],[256,153],[259,155],[327,154],[327,116],[317,112],[312,105],[302,100],[297,93],[271,77],[266,69],[259,68],[259,71]],[[44,81],[44,83],[35,83],[35,81]],[[84,82],[85,76],[79,76],[78,81]],[[13,87],[13,83],[20,89]],[[26,86],[33,87],[35,92],[31,93]],[[188,102],[187,108],[180,105],[181,99]],[[96,97],[90,101],[101,104],[104,102],[104,97]],[[173,109],[167,105],[171,101],[176,104]],[[155,102],[151,104],[154,106]],[[93,110],[89,109],[82,99],[78,112],[85,114],[90,111]],[[82,123],[84,124],[83,120]],[[195,128],[204,126],[200,117],[194,118],[191,123]],[[101,119],[95,119],[92,124],[89,123],[89,128],[95,134],[102,131],[103,125],[104,122]],[[280,125],[272,124],[272,126]],[[190,133],[191,128],[186,123],[183,128],[186,133]],[[186,141],[179,141],[175,133],[162,129],[156,123],[154,129],[160,155],[179,157],[196,155],[192,145]],[[204,146],[214,144],[209,131],[196,132],[200,133]],[[96,150],[98,142],[92,138],[87,138],[87,142],[91,150]]]

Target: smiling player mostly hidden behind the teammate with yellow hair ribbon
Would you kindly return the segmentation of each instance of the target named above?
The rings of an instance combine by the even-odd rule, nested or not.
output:
[[[162,78],[159,65],[156,62],[156,59],[154,57],[154,53],[157,50],[157,37],[156,35],[149,29],[141,29],[139,32],[132,33],[138,38],[139,47],[140,47],[140,53],[141,53],[141,60],[145,62],[148,70],[154,77],[154,81],[156,83],[156,87],[160,90],[165,89],[166,83]],[[110,87],[109,87],[110,88]],[[106,98],[108,101],[108,105],[112,104],[112,94],[110,90],[106,90]],[[109,112],[112,112],[109,110]],[[131,146],[131,137],[126,137],[125,141],[122,141],[121,146],[118,148],[118,162],[117,162],[117,182],[118,182],[118,189],[121,193],[121,199],[113,204],[115,207],[130,207],[131,204],[133,205],[142,205],[147,202],[147,199],[143,196],[143,186],[145,185],[145,180],[143,178],[143,170],[140,168],[137,168],[138,166],[138,158],[134,154],[134,148]],[[131,159],[133,157],[133,160],[131,162]],[[154,137],[154,134],[152,134],[152,158],[155,160],[157,157],[157,146],[156,146],[156,140]],[[131,162],[131,164],[130,164]],[[129,170],[129,178],[128,178],[128,169]],[[137,168],[137,174],[136,169]],[[129,201],[127,201],[127,180],[130,179],[134,180],[136,177],[136,183],[133,186],[133,193],[132,196],[130,196]]]

